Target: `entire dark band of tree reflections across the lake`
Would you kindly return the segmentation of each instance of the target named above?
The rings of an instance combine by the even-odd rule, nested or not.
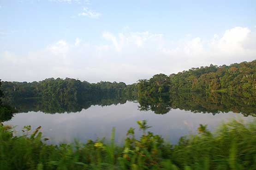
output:
[[[136,100],[130,96],[101,96],[90,100],[57,100],[57,99],[26,99],[10,100],[9,105],[15,107],[18,112],[42,111],[45,113],[70,113],[88,109],[90,106],[109,106],[124,104],[127,100]],[[256,116],[255,94],[242,96],[230,96],[220,93],[179,93],[163,96],[139,96],[137,97],[140,111],[154,111],[155,114],[166,114],[171,109],[181,109],[194,113],[242,113],[244,116]],[[12,115],[0,115],[4,121],[10,120]],[[0,120],[1,122],[1,120]]]

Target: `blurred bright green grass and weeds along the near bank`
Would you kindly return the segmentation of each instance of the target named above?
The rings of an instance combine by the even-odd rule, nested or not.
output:
[[[111,140],[48,145],[38,127],[15,136],[12,127],[0,125],[0,170],[256,170],[256,122],[231,120],[211,133],[200,125],[198,134],[181,137],[177,145],[149,132],[146,121],[137,122],[143,135],[127,131],[124,146]]]

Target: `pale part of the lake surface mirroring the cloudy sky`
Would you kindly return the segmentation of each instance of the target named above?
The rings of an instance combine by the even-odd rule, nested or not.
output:
[[[15,114],[5,124],[15,125],[18,131],[21,131],[24,125],[31,125],[33,129],[42,126],[41,131],[45,137],[50,139],[50,143],[72,142],[74,138],[83,142],[102,137],[109,139],[111,130],[115,127],[115,140],[122,143],[130,127],[136,129],[137,136],[141,135],[142,132],[138,130],[136,121],[145,119],[152,126],[150,131],[162,135],[175,144],[181,136],[196,133],[200,123],[208,124],[208,129],[214,130],[219,123],[230,118],[240,118],[245,121],[256,119],[253,116],[244,117],[243,114],[232,111],[226,113],[220,111],[213,115],[212,113],[194,113],[196,111],[185,111],[179,108],[173,109],[169,108],[169,105],[167,113],[155,114],[155,111],[151,111],[150,108],[141,111],[143,109],[139,109],[141,105],[136,101],[127,100],[121,103],[108,106],[92,105],[87,109],[82,108],[81,111],[69,113],[65,111],[55,114],[43,111],[21,112]],[[154,106],[157,107],[160,104],[156,102]]]

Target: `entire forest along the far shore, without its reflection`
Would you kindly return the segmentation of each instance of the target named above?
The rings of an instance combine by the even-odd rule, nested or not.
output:
[[[5,98],[46,97],[58,100],[89,100],[102,96],[136,96],[169,94],[179,91],[228,92],[242,94],[256,90],[256,60],[231,64],[210,65],[171,74],[157,74],[137,83],[81,82],[72,78],[48,78],[40,82],[2,82]]]

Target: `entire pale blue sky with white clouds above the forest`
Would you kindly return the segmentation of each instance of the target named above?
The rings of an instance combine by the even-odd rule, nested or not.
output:
[[[0,79],[131,84],[256,59],[255,0],[0,0]]]

